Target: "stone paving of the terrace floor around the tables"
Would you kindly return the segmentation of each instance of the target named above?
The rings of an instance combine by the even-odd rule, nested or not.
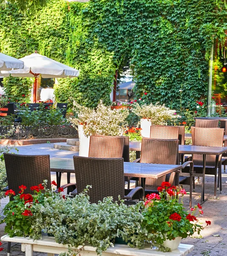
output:
[[[50,157],[71,158],[75,152],[63,151],[52,148],[53,144],[17,146],[19,154],[50,154]],[[51,173],[51,179],[55,178],[55,173]],[[74,182],[74,175],[71,175],[71,181]],[[66,175],[62,175],[62,185],[66,183]],[[193,237],[182,239],[184,244],[193,244],[195,249],[188,256],[227,256],[227,173],[222,170],[222,194],[217,191],[217,198],[214,200],[213,187],[214,177],[206,175],[205,178],[205,198],[208,198],[202,207],[204,215],[200,215],[199,220],[204,223],[211,221],[211,225],[202,230],[201,234],[195,234]],[[188,190],[189,187],[185,186]],[[200,202],[201,180],[196,182],[196,192],[193,192],[193,205]],[[9,201],[8,198],[1,200],[1,208]],[[185,195],[184,206],[189,209],[189,195]],[[4,235],[4,224],[0,225],[0,236]],[[7,255],[7,243],[3,243],[5,250],[0,255]],[[20,244],[12,244],[11,256],[25,255],[21,252]],[[34,256],[43,256],[45,253],[35,253]]]

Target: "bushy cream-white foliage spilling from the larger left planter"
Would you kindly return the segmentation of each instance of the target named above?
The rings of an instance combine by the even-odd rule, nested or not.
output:
[[[90,135],[107,135],[122,136],[127,128],[128,109],[113,109],[110,106],[103,105],[99,102],[96,110],[86,108],[74,101],[74,112],[77,117],[71,117],[72,125],[83,125],[85,136]]]

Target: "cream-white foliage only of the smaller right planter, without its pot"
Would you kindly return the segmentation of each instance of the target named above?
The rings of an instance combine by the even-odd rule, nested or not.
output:
[[[155,105],[152,103],[150,105],[134,103],[131,111],[141,118],[149,119],[152,125],[167,125],[167,121],[181,117],[176,114],[175,110],[165,107],[165,104],[160,105],[159,102]]]

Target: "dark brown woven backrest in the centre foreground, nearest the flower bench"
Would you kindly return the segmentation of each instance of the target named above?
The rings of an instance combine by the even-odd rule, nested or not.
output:
[[[91,185],[88,195],[91,203],[98,203],[103,198],[118,196],[124,198],[124,160],[123,158],[92,158],[74,156],[77,193]]]

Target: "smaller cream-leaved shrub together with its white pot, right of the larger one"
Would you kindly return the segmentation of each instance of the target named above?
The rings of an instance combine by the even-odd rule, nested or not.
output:
[[[165,104],[139,104],[134,103],[131,109],[133,113],[141,118],[140,126],[142,128],[142,137],[150,138],[150,126],[151,125],[167,125],[167,121],[172,121],[179,118],[175,110],[170,110]]]

